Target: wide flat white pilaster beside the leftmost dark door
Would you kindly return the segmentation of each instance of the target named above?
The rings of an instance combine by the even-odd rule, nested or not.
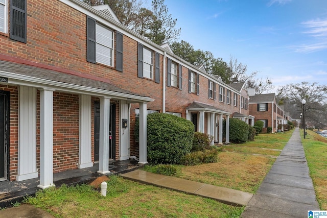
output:
[[[19,86],[17,181],[37,178],[36,88]]]

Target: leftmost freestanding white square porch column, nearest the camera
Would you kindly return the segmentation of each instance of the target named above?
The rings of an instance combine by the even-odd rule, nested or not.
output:
[[[53,92],[40,89],[40,184],[39,188],[53,184]]]

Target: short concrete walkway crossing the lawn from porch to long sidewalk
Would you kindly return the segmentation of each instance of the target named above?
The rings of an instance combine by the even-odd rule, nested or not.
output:
[[[253,196],[253,194],[244,191],[208,185],[201,182],[194,182],[176,177],[163,176],[160,174],[142,171],[140,169],[136,169],[136,171],[126,174],[121,174],[121,176],[125,179],[142,182],[145,184],[215,199],[219,202],[234,206],[247,205]]]

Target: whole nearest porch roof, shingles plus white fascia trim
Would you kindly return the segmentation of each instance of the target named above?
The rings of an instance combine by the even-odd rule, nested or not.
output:
[[[37,88],[47,87],[72,93],[93,94],[96,96],[109,95],[114,98],[136,102],[153,101],[149,96],[119,88],[111,84],[108,79],[84,75],[66,69],[58,68],[58,70],[56,70],[56,67],[38,63],[35,63],[35,65],[40,66],[29,65],[30,62],[27,62],[28,64],[0,60],[0,75],[8,78],[7,84],[11,85],[33,85]]]

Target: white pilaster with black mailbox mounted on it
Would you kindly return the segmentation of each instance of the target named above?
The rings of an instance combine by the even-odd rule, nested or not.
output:
[[[119,109],[119,160],[128,160],[129,159],[129,122],[127,122],[127,128],[124,128],[122,125],[122,120],[129,120],[129,104],[125,100],[120,101]]]

